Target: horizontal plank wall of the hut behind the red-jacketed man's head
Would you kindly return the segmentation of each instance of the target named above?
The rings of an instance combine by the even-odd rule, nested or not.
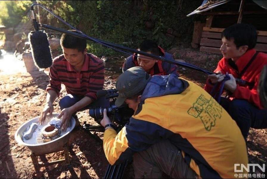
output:
[[[221,32],[222,28],[203,27],[200,40],[200,51],[221,54],[222,45]],[[258,31],[258,39],[255,49],[261,52],[267,52],[267,31]]]

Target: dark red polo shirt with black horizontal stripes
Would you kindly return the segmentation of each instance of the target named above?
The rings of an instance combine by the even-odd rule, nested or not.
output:
[[[80,72],[76,72],[62,54],[53,60],[53,65],[49,68],[50,83],[46,91],[54,90],[59,96],[61,84],[64,84],[68,94],[79,98],[88,96],[95,101],[96,92],[103,89],[104,72],[102,60],[93,54],[86,53]]]

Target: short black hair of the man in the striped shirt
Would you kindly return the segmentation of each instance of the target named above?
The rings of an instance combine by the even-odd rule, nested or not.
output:
[[[79,33],[76,30],[69,30],[71,32]],[[83,52],[86,49],[86,39],[75,37],[69,34],[62,34],[60,38],[60,45],[64,48],[77,49],[79,52]]]

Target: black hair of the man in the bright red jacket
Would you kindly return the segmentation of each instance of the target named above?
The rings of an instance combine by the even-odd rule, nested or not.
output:
[[[222,32],[222,38],[234,40],[236,48],[248,45],[248,50],[255,47],[257,43],[257,29],[253,25],[237,23],[227,27]]]

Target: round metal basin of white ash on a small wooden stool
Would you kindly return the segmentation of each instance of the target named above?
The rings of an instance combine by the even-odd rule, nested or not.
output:
[[[55,113],[52,115],[52,117],[58,117],[58,114],[59,113]],[[24,132],[27,130],[27,128],[32,123],[38,123],[39,117],[40,116],[26,121],[17,129],[17,131],[15,132],[16,141],[19,144],[27,146],[32,152],[35,153],[35,155],[58,152],[69,141],[70,132],[74,129],[75,123],[76,123],[74,117],[71,118],[70,123],[69,123],[69,127],[68,127],[66,133],[57,139],[54,139],[54,140],[46,142],[46,143],[41,143],[41,144],[27,144],[27,143],[23,142],[22,137],[24,135]],[[47,115],[47,117],[49,117],[49,116]]]

